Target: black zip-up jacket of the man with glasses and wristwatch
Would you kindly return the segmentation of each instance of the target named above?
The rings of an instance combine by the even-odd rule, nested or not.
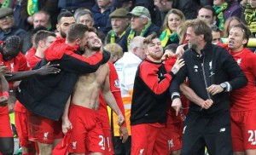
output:
[[[196,95],[203,100],[209,98],[213,100],[213,105],[208,110],[201,110],[201,106],[190,102],[190,111],[211,115],[230,108],[228,92],[213,96],[207,93],[206,88],[212,84],[228,82],[232,89],[240,89],[247,84],[246,76],[232,55],[226,49],[212,43],[206,44],[205,48],[201,50],[201,55],[198,55],[192,49],[187,49],[182,58],[185,60],[185,66],[177,72],[172,80],[171,95],[179,91],[180,83],[183,83],[185,78],[188,77],[189,87],[195,91]]]

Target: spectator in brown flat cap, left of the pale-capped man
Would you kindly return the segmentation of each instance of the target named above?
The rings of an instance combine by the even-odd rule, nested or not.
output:
[[[113,13],[109,14],[111,19],[112,30],[108,32],[105,38],[105,44],[107,43],[119,43],[122,37],[125,35],[125,30],[129,26],[128,11],[126,9],[116,9]]]

